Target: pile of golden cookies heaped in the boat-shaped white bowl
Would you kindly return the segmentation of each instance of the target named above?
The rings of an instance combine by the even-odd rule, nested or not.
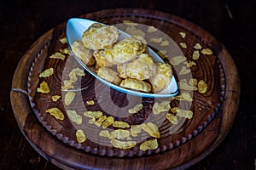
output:
[[[159,93],[169,85],[172,66],[155,63],[143,37],[118,39],[115,26],[95,23],[84,31],[82,41],[72,43],[72,50],[85,65],[96,69],[98,77],[122,88]]]

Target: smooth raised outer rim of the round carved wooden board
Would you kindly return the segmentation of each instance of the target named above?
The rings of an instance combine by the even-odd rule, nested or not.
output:
[[[220,79],[223,79],[219,80],[223,83],[220,84],[220,87],[223,88],[222,91],[220,90],[221,95],[219,94],[219,98],[221,98],[219,99],[220,103],[218,103],[218,109],[214,112],[213,116],[209,117],[208,121],[202,121],[199,129],[194,130],[197,133],[195,135],[192,133],[193,137],[185,136],[183,139],[177,140],[178,143],[173,143],[174,147],[172,146],[170,150],[166,150],[163,147],[160,148],[160,150],[164,150],[160,151],[160,154],[157,152],[151,154],[149,152],[142,156],[130,157],[98,156],[64,144],[55,135],[49,133],[49,130],[38,121],[36,114],[31,108],[27,93],[28,77],[35,59],[37,63],[41,63],[41,65],[37,65],[39,66],[37,67],[38,72],[41,72],[44,67],[45,58],[52,53],[51,50],[55,48],[55,41],[61,36],[63,29],[65,29],[66,23],[63,23],[61,26],[56,26],[46,32],[24,54],[15,71],[10,94],[13,111],[20,130],[38,153],[61,168],[178,169],[190,167],[196,162],[201,161],[220,144],[234,122],[240,97],[240,80],[236,65],[221,43],[199,26],[195,26],[193,23],[177,16],[158,11],[119,8],[84,14],[81,17],[110,24],[117,21],[132,20],[137,23],[148,24],[148,26],[153,25],[163,31],[166,31],[167,25],[171,23],[173,26],[178,26],[190,32],[195,37],[200,37],[201,41],[205,42],[207,47],[212,49],[217,56],[218,65],[220,65],[217,68],[222,76]],[[214,91],[212,94],[214,94]]]

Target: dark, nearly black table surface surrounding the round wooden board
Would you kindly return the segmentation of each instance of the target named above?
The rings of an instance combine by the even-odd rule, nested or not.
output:
[[[9,99],[12,78],[22,55],[46,31],[71,17],[106,8],[149,8],[175,14],[201,26],[224,44],[241,77],[236,120],[222,144],[189,169],[255,169],[255,1],[73,2],[9,0],[0,6],[0,169],[58,169],[44,160],[20,132]]]

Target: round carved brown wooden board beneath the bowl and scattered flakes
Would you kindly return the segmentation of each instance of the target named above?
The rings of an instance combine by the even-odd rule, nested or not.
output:
[[[60,49],[67,48],[67,44],[60,42],[66,31],[66,23],[62,23],[46,32],[27,50],[17,66],[12,84],[11,103],[15,118],[21,132],[38,153],[61,168],[166,169],[190,167],[218,147],[234,122],[240,97],[240,80],[236,65],[220,42],[201,27],[159,11],[117,8],[80,17],[108,25],[123,23],[125,31],[138,34],[149,34],[154,28],[164,32],[172,37],[187,59],[186,63],[173,66],[177,81],[182,82],[186,79],[189,83],[190,78],[204,80],[207,83],[207,92],[190,90],[190,101],[181,98],[169,99],[172,108],[179,107],[193,112],[192,118],[181,116],[178,117],[178,123],[173,124],[166,119],[166,115],[155,116],[152,113],[154,103],[160,102],[160,99],[137,99],[135,96],[116,92],[97,82],[87,73],[79,79],[79,88],[75,87],[73,90],[80,96],[80,100],[76,101],[81,101],[73,105],[73,110],[83,112],[86,101],[93,100],[95,104],[87,105],[87,110],[108,110],[104,114],[109,116],[109,112],[112,114],[120,111],[119,108],[127,109],[125,106],[129,105],[129,102],[139,100],[143,104],[141,111],[125,116],[124,109],[121,111],[124,115],[115,114],[114,118],[130,125],[150,120],[149,122],[154,122],[159,127],[160,138],[157,138],[158,147],[155,149],[139,149],[144,140],[154,139],[145,133],[140,136],[142,139],[137,145],[130,149],[113,147],[109,139],[99,138],[98,131],[86,124],[88,120],[83,119],[82,125],[77,126],[68,119],[65,112],[63,97],[67,92],[61,91],[61,86],[63,80],[67,80],[71,69],[79,67],[79,64],[68,54],[65,54],[66,58],[63,60],[49,58],[50,55],[60,52]],[[147,29],[140,27],[142,25]],[[162,47],[159,52],[164,55],[166,62],[169,62],[173,56],[165,54],[168,46],[164,45],[165,39],[160,39],[160,35],[154,34],[151,39],[148,37],[148,41],[163,43],[159,46]],[[196,43],[201,44],[201,49],[195,49]],[[186,48],[183,44],[186,44]],[[212,54],[204,54],[202,49],[211,49]],[[199,59],[193,58],[195,50],[200,54]],[[187,65],[192,64],[192,61],[194,65]],[[38,75],[47,68],[54,68],[55,74],[39,78]],[[183,69],[189,70],[188,73],[181,74],[180,71]],[[49,94],[37,92],[42,81],[48,82]],[[181,89],[179,97],[183,92],[188,90]],[[53,95],[60,95],[61,99],[53,102]],[[45,113],[49,107],[61,108],[65,119],[61,121]],[[78,128],[83,128],[87,132],[88,139],[83,143],[76,139],[75,132]]]

